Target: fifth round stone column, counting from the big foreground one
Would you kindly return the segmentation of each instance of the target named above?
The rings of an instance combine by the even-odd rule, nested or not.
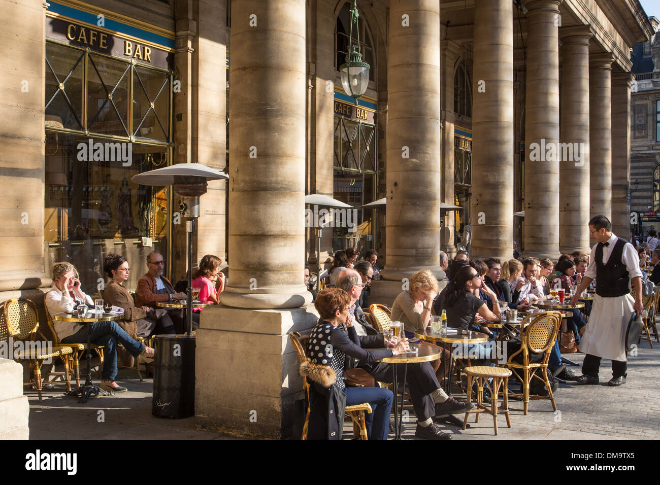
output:
[[[589,252],[589,26],[562,27],[559,249]]]

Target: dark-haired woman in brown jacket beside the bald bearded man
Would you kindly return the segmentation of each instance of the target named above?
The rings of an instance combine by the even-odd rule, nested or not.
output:
[[[123,256],[110,253],[106,256],[103,270],[112,280],[106,284],[103,294],[104,300],[123,309],[123,320],[117,321],[119,326],[133,337],[149,337],[154,333],[176,333],[174,323],[166,309],[136,307],[133,297],[124,288],[123,282],[128,279],[131,269]]]

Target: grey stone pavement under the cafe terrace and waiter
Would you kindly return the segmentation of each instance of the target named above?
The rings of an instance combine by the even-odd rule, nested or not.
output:
[[[581,364],[584,354],[568,354]],[[660,438],[660,344],[651,349],[642,342],[638,356],[628,359],[628,382],[607,387],[611,377],[609,360],[601,366],[601,385],[560,384],[552,411],[550,401],[529,403],[527,416],[523,404],[510,399],[512,428],[504,416],[498,418],[494,436],[492,418],[481,414],[465,431],[442,425],[453,439],[659,439]],[[572,368],[579,373],[578,368]],[[31,439],[232,439],[211,431],[195,429],[195,418],[173,420],[151,415],[152,379],[141,382],[135,371],[119,370],[119,379],[129,392],[113,397],[91,398],[79,404],[76,398],[61,393],[45,393],[39,403],[36,392],[26,391],[30,399]],[[95,380],[98,383],[98,379]],[[61,387],[61,384],[59,385]],[[412,408],[410,408],[412,410]],[[104,422],[99,422],[99,411]],[[463,417],[460,415],[459,417]],[[404,437],[414,438],[415,418],[403,424]],[[345,438],[352,437],[352,426],[345,424]]]

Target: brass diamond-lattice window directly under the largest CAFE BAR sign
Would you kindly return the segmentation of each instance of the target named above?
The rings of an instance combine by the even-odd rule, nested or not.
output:
[[[46,115],[65,129],[170,143],[170,96],[169,71],[46,42]]]

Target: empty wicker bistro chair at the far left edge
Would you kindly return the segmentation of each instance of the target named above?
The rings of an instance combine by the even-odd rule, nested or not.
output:
[[[12,298],[3,304],[3,313],[7,325],[7,334],[17,340],[34,342],[38,333],[42,341],[47,342],[46,337],[39,331],[39,317],[37,308],[31,300],[26,298]],[[28,340],[29,339],[29,340]],[[69,379],[69,356],[73,349],[69,346],[53,345],[49,349],[38,349],[33,346],[26,346],[24,350],[14,353],[17,361],[27,360],[30,364],[30,382],[24,385],[34,384],[39,395],[39,401],[42,401],[42,374],[41,369],[44,360],[50,358],[59,358],[64,365],[64,372],[49,372],[48,375],[61,375],[65,379],[67,391],[71,391],[71,380]]]

